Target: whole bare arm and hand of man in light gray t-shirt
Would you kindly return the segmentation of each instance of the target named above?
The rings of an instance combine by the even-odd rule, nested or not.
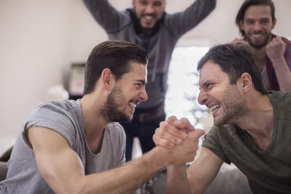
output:
[[[190,137],[185,146],[157,146],[122,167],[85,176],[79,156],[61,134],[31,127],[27,137],[41,176],[57,194],[131,194],[163,167],[192,161],[197,149]]]

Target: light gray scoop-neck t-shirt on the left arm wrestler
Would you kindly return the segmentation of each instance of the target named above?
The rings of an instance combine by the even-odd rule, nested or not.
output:
[[[53,100],[37,105],[25,121],[8,162],[6,180],[0,182],[0,194],[54,194],[40,175],[25,131],[46,127],[59,132],[78,154],[85,175],[103,172],[125,163],[126,137],[119,123],[109,123],[101,151],[95,155],[87,145],[80,100]],[[68,161],[69,162],[69,161]]]

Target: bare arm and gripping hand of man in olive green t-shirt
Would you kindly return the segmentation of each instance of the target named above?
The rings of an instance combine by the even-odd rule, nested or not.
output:
[[[184,144],[185,132],[197,132],[197,138],[203,135],[202,130],[194,129],[188,119],[178,120],[175,116],[160,123],[153,140],[156,145],[170,148],[169,144]],[[189,136],[189,135],[188,135]],[[216,177],[223,160],[202,147],[200,156],[191,164],[187,173],[186,165],[169,165],[167,171],[167,194],[202,194]]]

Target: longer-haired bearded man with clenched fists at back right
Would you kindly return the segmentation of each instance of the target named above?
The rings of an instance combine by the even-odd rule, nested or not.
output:
[[[245,0],[236,17],[241,38],[232,41],[249,45],[267,91],[291,91],[291,41],[272,34],[275,6],[272,0]]]

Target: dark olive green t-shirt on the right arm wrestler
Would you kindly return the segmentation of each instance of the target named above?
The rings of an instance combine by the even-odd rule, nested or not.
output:
[[[264,151],[237,125],[213,126],[202,146],[235,164],[246,175],[253,194],[291,194],[291,92],[267,95],[273,105],[274,130]]]

